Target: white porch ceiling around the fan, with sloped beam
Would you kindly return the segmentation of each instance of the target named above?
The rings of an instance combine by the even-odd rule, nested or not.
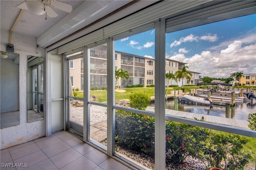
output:
[[[22,0],[0,0],[0,27],[3,30],[27,35],[31,37],[47,37],[58,31],[54,37],[49,38],[49,43],[54,43],[61,38],[68,36],[86,25],[106,16],[110,12],[128,4],[132,0],[60,0],[72,5],[72,12],[67,13],[54,8],[58,16],[50,18],[46,15],[36,15],[28,10],[24,10],[20,18],[18,18],[21,9],[17,8]],[[152,1],[153,3],[154,1]],[[145,3],[146,4],[146,3]],[[148,4],[146,4],[148,5]],[[18,20],[17,20],[18,18]],[[54,28],[54,29],[53,29]],[[48,34],[46,34],[48,33]],[[41,38],[40,37],[40,38]],[[58,37],[58,39],[56,39]],[[54,40],[53,40],[54,39]],[[49,45],[49,43],[47,45]],[[42,46],[41,46],[42,47]]]

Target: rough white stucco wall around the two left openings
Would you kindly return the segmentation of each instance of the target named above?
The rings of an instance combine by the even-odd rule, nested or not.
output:
[[[1,51],[6,51],[9,32],[0,30]],[[20,125],[0,129],[0,149],[12,147],[45,136],[45,119],[27,123],[27,55],[44,57],[44,49],[36,47],[36,38],[12,33],[14,52],[20,55],[19,100]],[[36,54],[38,52],[38,54]]]

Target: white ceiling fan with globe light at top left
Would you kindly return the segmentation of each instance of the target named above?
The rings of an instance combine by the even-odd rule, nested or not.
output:
[[[70,4],[58,0],[25,0],[17,7],[23,10],[29,10],[36,15],[46,14],[50,18],[58,16],[53,8],[69,13],[72,11],[72,6]],[[45,20],[46,19],[47,18],[45,17]]]

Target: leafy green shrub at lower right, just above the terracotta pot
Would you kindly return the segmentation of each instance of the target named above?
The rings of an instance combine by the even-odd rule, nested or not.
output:
[[[212,133],[206,142],[207,145],[202,148],[204,155],[207,155],[204,159],[210,162],[209,167],[243,170],[252,159],[250,153],[244,153],[244,145],[247,143],[248,139],[240,135]],[[222,162],[225,164],[222,165]]]

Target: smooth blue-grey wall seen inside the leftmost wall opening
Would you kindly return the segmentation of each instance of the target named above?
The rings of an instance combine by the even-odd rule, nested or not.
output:
[[[19,106],[19,64],[13,59],[1,58],[1,105],[0,113],[18,111]]]

